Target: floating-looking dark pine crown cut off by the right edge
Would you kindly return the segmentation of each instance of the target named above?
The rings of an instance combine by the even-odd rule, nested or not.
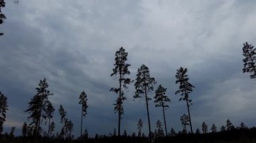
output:
[[[251,73],[250,78],[256,78],[256,48],[254,48],[251,44],[245,42],[243,44],[243,59],[244,68],[243,73]]]

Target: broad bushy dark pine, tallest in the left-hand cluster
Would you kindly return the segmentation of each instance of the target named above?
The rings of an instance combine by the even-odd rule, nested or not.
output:
[[[28,116],[28,119],[32,119],[32,123],[30,126],[34,127],[34,136],[35,138],[38,137],[40,132],[40,121],[41,117],[42,119],[46,119],[46,105],[49,103],[49,95],[53,95],[53,93],[50,93],[47,88],[49,87],[48,83],[46,82],[46,79],[40,80],[39,87],[36,88],[36,95],[30,100],[28,103],[28,109],[26,109],[25,112],[30,113],[30,116]]]

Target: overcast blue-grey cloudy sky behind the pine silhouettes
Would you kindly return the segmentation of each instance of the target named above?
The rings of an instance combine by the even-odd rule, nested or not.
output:
[[[187,114],[175,84],[177,69],[188,68],[195,86],[190,98],[193,130],[202,122],[220,130],[230,120],[256,126],[256,81],[243,73],[243,43],[256,46],[256,1],[186,0],[7,0],[2,9],[7,19],[0,31],[0,91],[8,98],[9,110],[4,132],[21,127],[24,111],[44,77],[55,107],[55,133],[60,131],[59,105],[73,121],[79,135],[81,107],[78,97],[88,95],[84,129],[90,136],[113,133],[118,128],[114,111],[117,79],[110,77],[115,52],[125,48],[131,79],[146,64],[158,85],[167,88],[171,102],[166,109],[168,132],[182,130],[180,117]],[[135,87],[125,93],[121,133],[138,132],[143,121],[148,134],[146,103],[133,99]],[[150,95],[154,97],[154,92]],[[162,110],[150,101],[152,130],[163,123]],[[46,126],[42,124],[44,130]]]

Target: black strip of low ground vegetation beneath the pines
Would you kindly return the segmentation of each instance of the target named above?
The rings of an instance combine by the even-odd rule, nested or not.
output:
[[[256,142],[256,128],[233,128],[231,130],[225,130],[221,132],[211,132],[205,134],[172,134],[169,136],[158,136],[153,134],[152,142],[161,143],[161,142],[197,142],[197,143],[204,143],[204,142]],[[3,134],[0,138],[0,142],[35,142],[33,137],[23,137],[23,136],[13,136],[11,134]],[[134,134],[131,135],[122,135],[122,136],[106,136],[106,135],[98,135],[94,138],[83,138],[83,140],[77,139],[61,139],[61,138],[48,138],[40,136],[36,142],[88,142],[88,143],[113,143],[113,142],[123,142],[123,143],[148,143],[150,140],[146,136],[135,136]]]

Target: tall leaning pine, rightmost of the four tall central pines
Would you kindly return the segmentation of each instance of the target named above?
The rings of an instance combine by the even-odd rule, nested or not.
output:
[[[189,77],[187,75],[187,68],[179,68],[177,70],[177,74],[175,76],[177,78],[176,84],[179,83],[179,90],[175,92],[175,95],[181,93],[181,98],[179,101],[184,100],[187,103],[187,111],[189,113],[189,124],[191,133],[193,134],[193,128],[191,124],[191,115],[189,111],[190,105],[192,105],[192,100],[189,99],[189,94],[193,91],[193,88],[195,88],[191,83],[189,83]]]

